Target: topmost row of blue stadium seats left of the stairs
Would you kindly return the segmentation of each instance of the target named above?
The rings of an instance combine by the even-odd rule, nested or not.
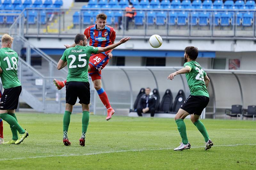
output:
[[[42,0],[35,0],[34,3],[32,3],[31,0],[25,0],[22,4],[21,0],[14,0],[12,3],[12,0],[4,0],[3,3],[0,0],[1,8],[0,10],[23,10],[24,8],[34,8],[34,7],[40,7],[40,8],[60,8],[63,5],[62,0],[55,0],[54,3],[52,0],[45,0],[44,3]],[[17,8],[18,7],[18,8]]]

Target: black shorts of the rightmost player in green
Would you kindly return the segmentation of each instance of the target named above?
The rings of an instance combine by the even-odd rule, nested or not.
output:
[[[189,96],[187,100],[180,106],[189,114],[201,115],[204,108],[209,103],[209,97],[206,96]]]

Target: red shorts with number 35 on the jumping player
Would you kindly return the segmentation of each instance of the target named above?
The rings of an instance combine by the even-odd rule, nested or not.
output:
[[[103,53],[94,54],[90,57],[89,67],[91,67],[91,71],[88,74],[92,81],[101,80],[101,70],[108,64],[108,60],[108,56]]]

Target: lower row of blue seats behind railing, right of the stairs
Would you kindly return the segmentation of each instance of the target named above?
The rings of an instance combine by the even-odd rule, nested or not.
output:
[[[81,22],[83,24],[92,24],[96,18],[96,15],[101,11],[84,11],[80,13],[77,11],[73,15],[73,24],[77,25]],[[122,11],[106,11],[108,16],[107,23],[108,25],[118,24],[118,18],[122,17]],[[236,21],[236,22],[235,22]],[[253,13],[252,12],[144,12],[139,11],[134,17],[135,25],[201,25],[206,26],[210,25],[212,22],[214,25],[218,26],[229,26],[234,25],[243,25],[243,26],[252,26],[253,24]]]

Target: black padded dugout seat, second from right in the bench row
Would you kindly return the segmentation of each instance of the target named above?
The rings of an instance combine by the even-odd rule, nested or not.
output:
[[[172,92],[170,89],[165,91],[159,106],[159,111],[164,113],[169,113],[172,111]]]

